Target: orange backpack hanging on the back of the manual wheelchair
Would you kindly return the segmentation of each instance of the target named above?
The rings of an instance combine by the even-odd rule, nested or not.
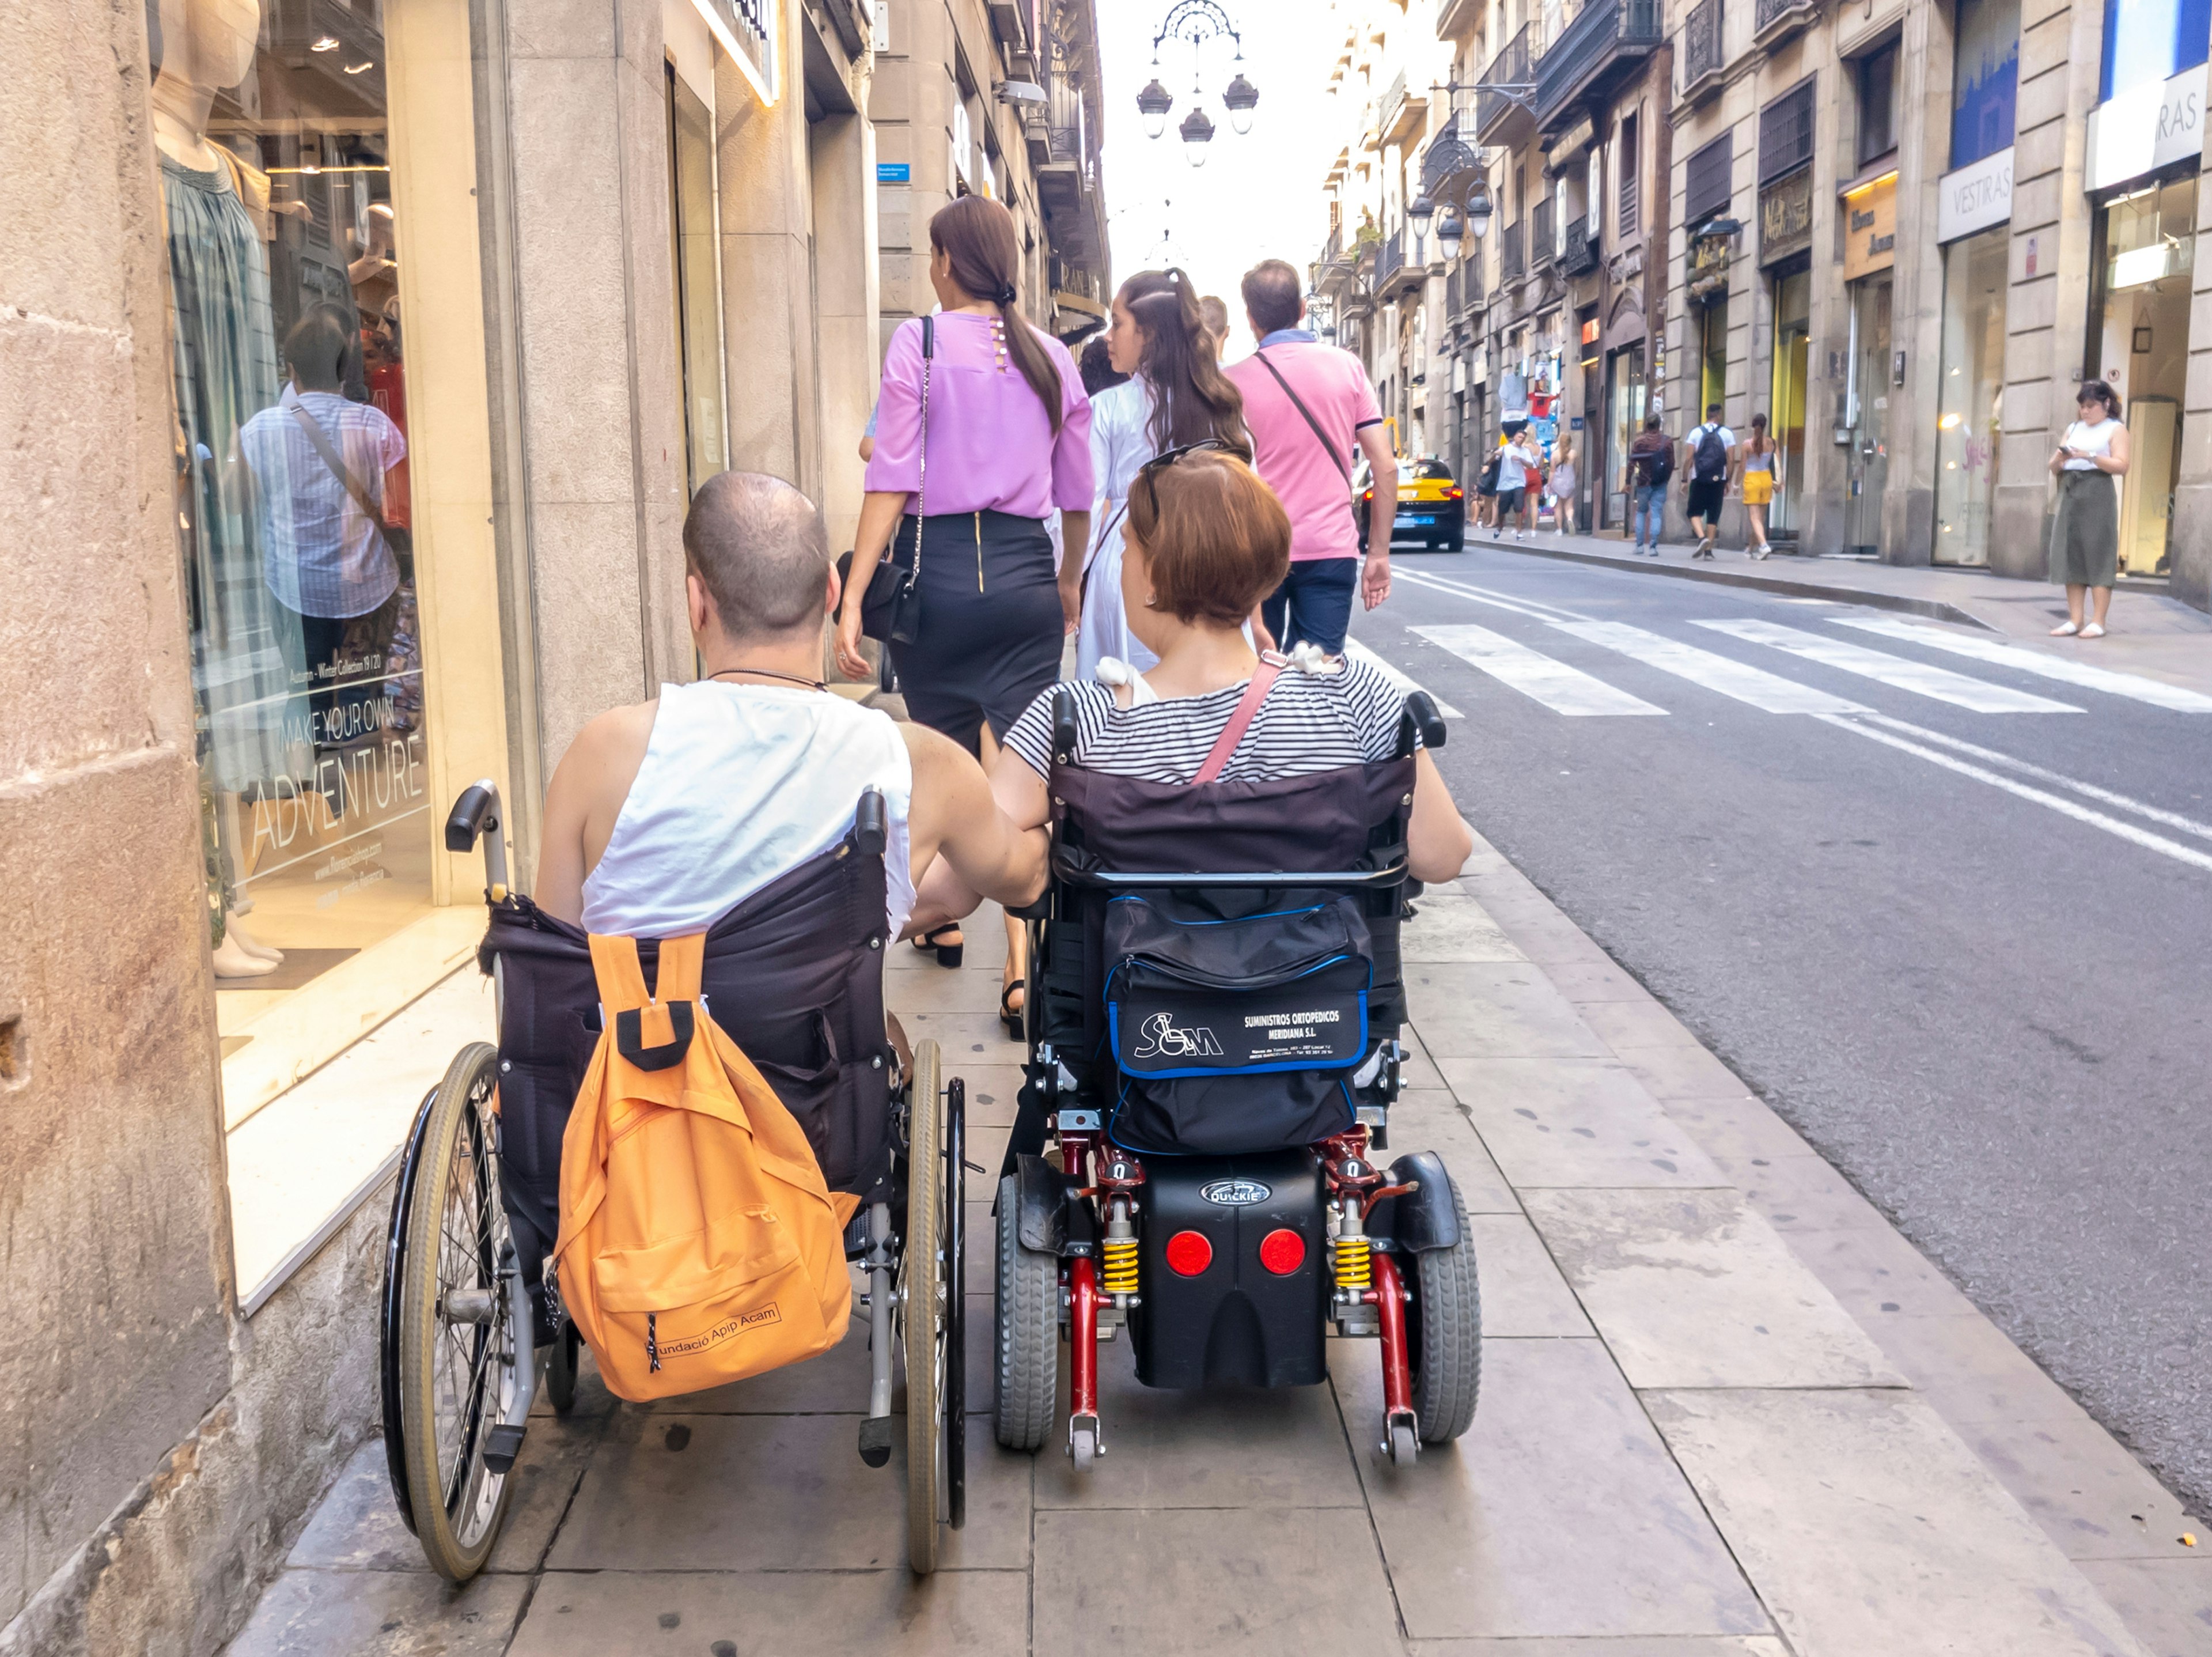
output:
[[[706,936],[593,938],[606,1031],[560,1161],[562,1305],[617,1398],[668,1398],[845,1338],[845,1221],[792,1113],[699,1007]]]

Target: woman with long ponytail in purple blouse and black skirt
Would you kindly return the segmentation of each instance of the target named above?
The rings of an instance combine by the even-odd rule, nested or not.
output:
[[[1022,316],[1018,270],[1013,215],[998,201],[960,197],[929,221],[942,310],[900,323],[885,352],[836,624],[838,668],[869,677],[860,613],[889,546],[900,577],[867,606],[869,631],[885,637],[907,712],[978,759],[984,728],[1004,737],[1060,677],[1075,631],[1079,562],[1055,577],[1044,520],[1057,507],[1066,544],[1091,540],[1091,400],[1068,350]],[[1020,929],[1009,923],[1006,936]],[[916,945],[960,965],[958,927]],[[1006,976],[1020,984],[1015,949]]]

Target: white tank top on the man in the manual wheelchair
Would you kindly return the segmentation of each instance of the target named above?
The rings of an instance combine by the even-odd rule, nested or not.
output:
[[[889,807],[889,938],[914,909],[914,763],[891,717],[821,690],[664,684],[646,759],[584,878],[584,931],[681,938],[849,830],[860,790]]]

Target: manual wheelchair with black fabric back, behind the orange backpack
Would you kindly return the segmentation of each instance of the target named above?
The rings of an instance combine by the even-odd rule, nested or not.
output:
[[[907,1562],[936,1569],[967,1518],[967,1088],[936,1042],[911,1057],[883,1015],[887,816],[865,792],[852,832],[708,929],[701,1007],[799,1117],[832,1192],[858,1199],[847,1259],[867,1276],[869,1398],[860,1458],[894,1447],[905,1378]],[[469,788],[449,852],[482,841],[498,1046],[471,1042],[416,1113],[385,1237],[380,1392],[392,1496],[431,1566],[476,1575],[507,1515],[540,1365],[575,1405],[580,1336],[546,1257],[560,1232],[560,1142],[599,1035],[584,931],[509,887],[498,788]],[[648,973],[657,947],[639,958]],[[896,1356],[894,1356],[896,1354]]]

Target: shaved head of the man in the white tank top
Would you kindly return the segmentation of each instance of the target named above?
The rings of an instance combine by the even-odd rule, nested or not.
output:
[[[783,478],[708,478],[684,518],[684,566],[714,600],[732,644],[821,628],[830,531],[814,502]]]

